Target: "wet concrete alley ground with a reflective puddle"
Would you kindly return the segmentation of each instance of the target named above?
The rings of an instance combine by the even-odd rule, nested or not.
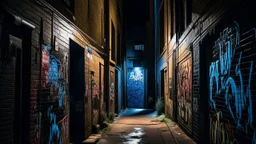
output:
[[[152,110],[126,110],[110,127],[98,144],[195,144],[174,122],[157,120]]]

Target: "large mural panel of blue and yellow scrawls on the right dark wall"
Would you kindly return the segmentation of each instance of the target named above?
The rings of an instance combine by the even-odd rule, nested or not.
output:
[[[256,143],[252,97],[256,30],[241,33],[238,23],[224,29],[209,67],[211,143]]]

